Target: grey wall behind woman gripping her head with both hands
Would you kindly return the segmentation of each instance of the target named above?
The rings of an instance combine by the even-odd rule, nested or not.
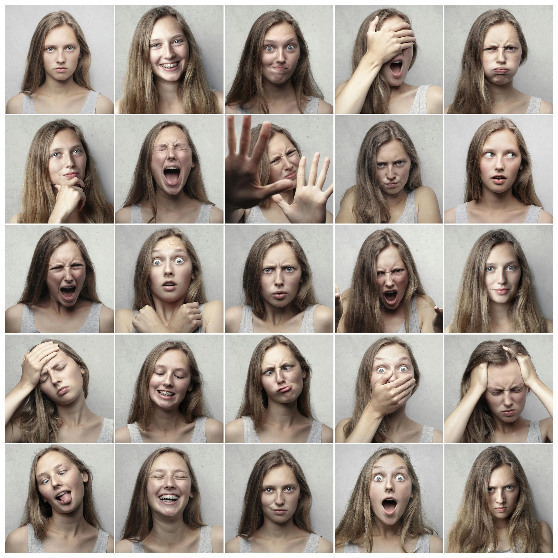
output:
[[[461,378],[473,350],[483,341],[499,341],[506,338],[516,339],[525,345],[525,348],[531,354],[531,360],[535,365],[538,377],[547,387],[552,389],[554,385],[552,378],[552,335],[448,335],[445,343],[445,417],[450,415],[460,401]],[[549,416],[549,413],[535,393],[529,393],[521,416],[527,420],[541,420]]]

